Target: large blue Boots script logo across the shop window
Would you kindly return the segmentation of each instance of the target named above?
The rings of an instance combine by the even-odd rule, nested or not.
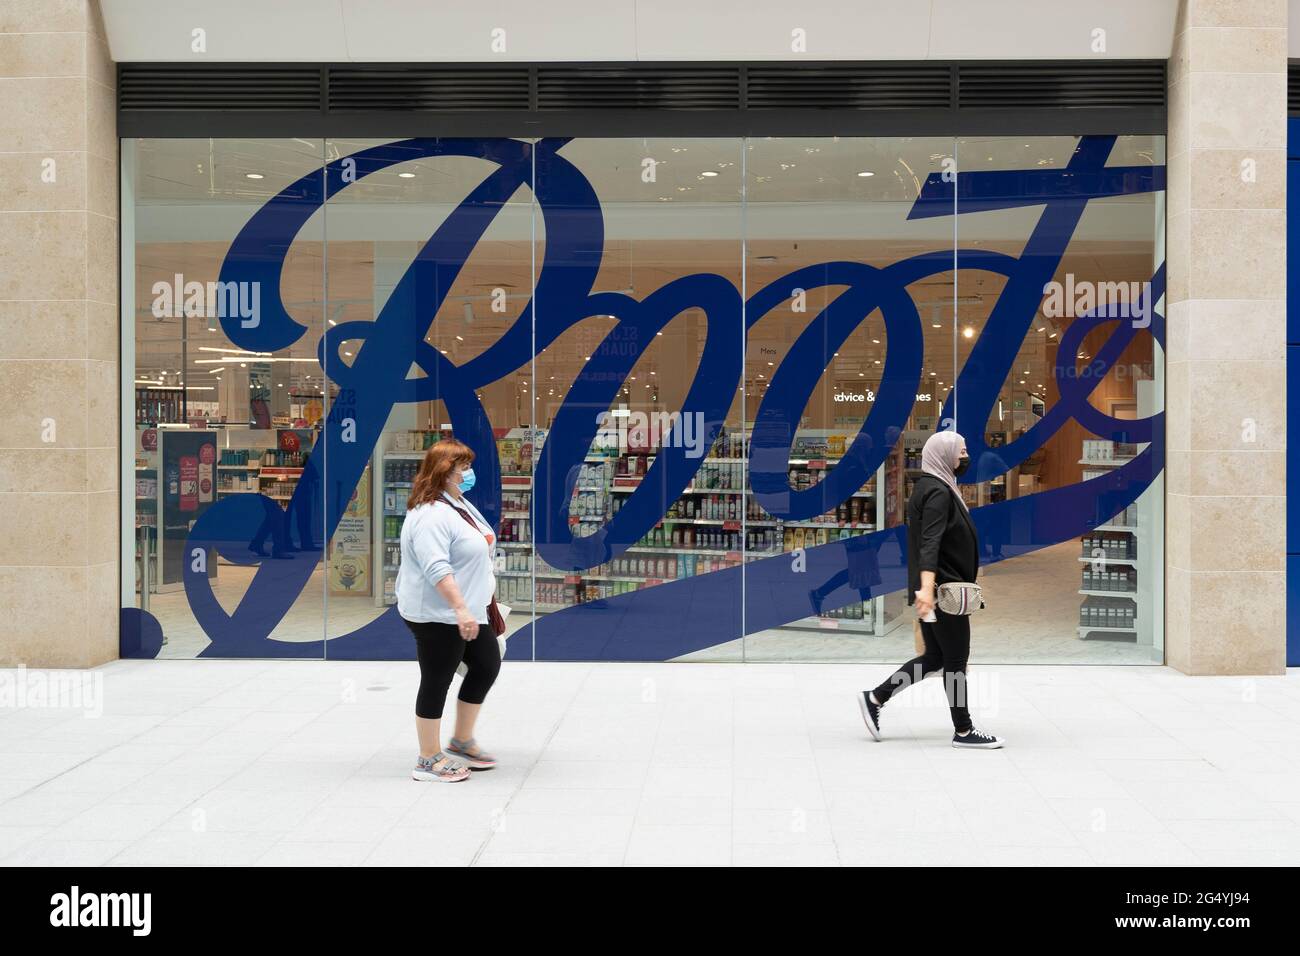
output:
[[[482,480],[471,498],[497,522],[497,445],[476,390],[528,367],[534,349],[541,351],[575,324],[601,315],[616,320],[606,339],[616,347],[593,351],[555,414],[533,476],[534,546],[538,557],[563,571],[582,571],[623,554],[663,518],[705,459],[689,455],[685,442],[666,440],[645,479],[612,519],[593,535],[573,537],[569,501],[599,427],[595,410],[614,405],[656,332],[684,310],[699,310],[707,329],[703,354],[679,420],[703,421],[708,447],[723,428],[744,373],[744,350],[736,336],[740,323],[753,325],[785,302],[794,287],[842,286],[844,291],[812,317],[775,369],[751,423],[749,479],[757,502],[774,518],[805,520],[832,511],[885,460],[915,401],[923,337],[906,286],[954,268],[1006,280],[942,408],[944,420],[959,415],[956,425],[966,437],[971,467],[963,481],[987,481],[1017,467],[1069,420],[1104,438],[1145,444],[1134,460],[1104,477],[975,509],[972,518],[982,538],[1001,545],[994,559],[1058,544],[1105,523],[1132,503],[1162,468],[1164,416],[1115,419],[1091,405],[1089,394],[1135,336],[1149,334],[1164,342],[1164,319],[1153,310],[1164,293],[1164,267],[1150,280],[1145,303],[1149,321],[1122,317],[1118,306],[1075,319],[1061,336],[1052,369],[1060,401],[1010,444],[996,449],[984,444],[984,423],[1088,202],[1165,189],[1164,166],[1106,165],[1114,137],[1082,138],[1062,169],[963,173],[956,181],[936,173],[926,181],[909,219],[1041,207],[1018,258],[944,248],[883,268],[823,263],[790,272],[748,300],[728,280],[710,273],[682,276],[640,300],[621,293],[593,293],[604,224],[590,183],[560,155],[567,142],[410,139],[369,148],[285,189],[252,216],[231,243],[221,281],[260,284],[263,303],[254,328],[244,328],[237,316],[222,319],[225,334],[235,346],[251,351],[286,349],[308,328],[289,315],[280,298],[281,269],[298,232],[322,203],[355,181],[416,159],[467,156],[495,165],[424,243],[374,321],[341,323],[318,342],[318,360],[338,385],[339,395],[306,463],[290,515],[304,510],[318,515],[325,540],[337,528],[394,406],[430,399],[445,403],[456,437],[477,453],[476,471]],[[546,235],[533,303],[499,341],[456,365],[425,337],[476,243],[520,187],[534,190]],[[786,466],[800,416],[833,352],[872,315],[879,316],[872,321],[881,323],[888,336],[888,352],[871,411],[842,460],[814,488],[794,490],[788,484]],[[1108,329],[1109,337],[1095,347],[1087,375],[1080,375],[1075,355],[1084,337],[1098,328]],[[361,343],[351,364],[339,359],[344,342]],[[412,362],[422,369],[422,377],[407,377]],[[956,410],[954,395],[959,399]],[[972,424],[962,428],[963,423]],[[315,496],[321,496],[322,502]],[[234,494],[218,499],[195,523],[186,546],[185,588],[195,619],[211,640],[202,656],[413,657],[413,641],[395,607],[351,633],[324,641],[269,637],[308,585],[321,554],[317,548],[298,559],[276,561],[250,550],[250,541],[259,533],[265,540],[268,525],[287,520],[269,498]],[[906,587],[905,533],[889,528],[807,548],[806,564],[800,570],[789,555],[758,558],[742,567],[540,615],[511,637],[510,657],[536,653],[547,659],[668,659],[824,609],[901,591]],[[313,536],[313,546],[320,540]],[[205,571],[207,559],[217,554],[257,566],[233,613],[218,604]],[[124,656],[153,656],[160,633],[148,614],[124,610]]]

